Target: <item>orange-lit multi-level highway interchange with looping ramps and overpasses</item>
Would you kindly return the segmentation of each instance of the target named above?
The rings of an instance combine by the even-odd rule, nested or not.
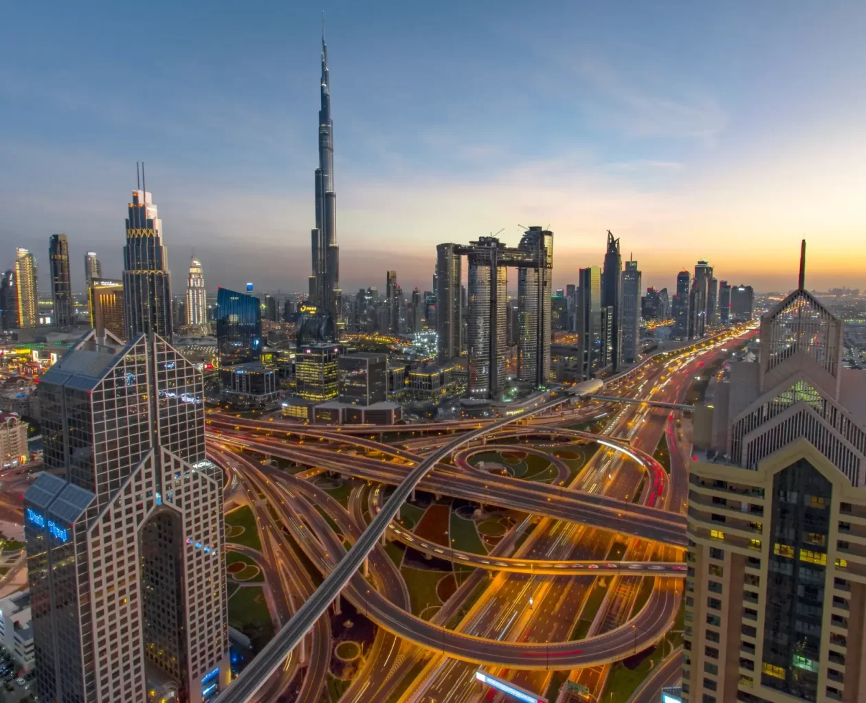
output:
[[[723,354],[721,345],[647,361],[629,377],[605,386],[605,394],[682,402],[691,376],[715,355]],[[320,690],[323,677],[319,660],[326,666],[331,648],[330,633],[320,631],[320,623],[326,623],[322,614],[340,591],[380,626],[365,660],[363,681],[359,675],[359,681],[341,699],[352,703],[380,700],[394,688],[395,679],[422,657],[426,665],[409,682],[401,700],[457,703],[479,692],[472,676],[478,664],[543,693],[553,670],[572,669],[579,678],[582,672],[657,642],[669,630],[682,595],[685,521],[681,513],[686,470],[682,456],[675,458],[678,452],[671,452],[670,476],[651,457],[662,433],[675,436],[674,416],[667,409],[643,405],[593,403],[560,410],[570,402],[554,399],[544,408],[546,412],[520,419],[520,426],[511,429],[507,425],[518,419],[377,427],[372,435],[370,428],[319,429],[276,419],[262,423],[210,415],[211,455],[240,476],[256,506],[263,545],[267,543],[271,550],[266,560],[280,565],[268,574],[268,584],[273,582],[275,590],[282,591],[282,604],[274,598],[279,623],[287,622],[289,610],[294,613],[219,700],[255,700],[256,695],[258,700],[274,700],[264,692],[269,696],[285,688],[301,658],[296,654],[287,660],[286,655],[301,649],[295,645],[305,636],[307,657],[301,663],[308,664],[304,674],[307,693],[298,700],[318,700],[313,689],[319,686]],[[607,446],[570,484],[564,485],[568,476],[555,461],[557,476],[551,484],[495,475],[469,462],[472,453],[483,449],[491,438],[500,449],[503,441],[522,440],[531,443],[527,447],[540,447],[599,439],[569,431],[565,425],[596,418],[600,412],[609,413],[600,438]],[[280,457],[309,469],[292,476],[269,463],[250,461],[255,455]],[[369,527],[360,492],[352,493],[347,510],[307,480],[322,471],[375,482],[376,488],[367,493]],[[397,489],[383,506],[382,486],[386,484],[397,485]],[[400,504],[416,486],[437,495],[535,514],[540,522],[515,526],[486,556],[447,548],[417,537],[394,521]],[[326,511],[330,521],[320,510]],[[339,525],[339,535],[331,521]],[[305,589],[295,583],[301,580],[295,572],[305,567],[284,556],[292,552],[285,544],[287,532],[327,576],[325,585],[331,581],[339,587],[328,592],[320,586],[311,592],[311,584]],[[456,612],[451,601],[461,595],[467,602],[472,600],[469,593],[461,594],[468,591],[464,586],[470,580],[476,590],[481,589],[481,597],[471,603],[456,626],[441,626],[447,623],[442,616],[423,620],[411,614],[403,578],[378,545],[383,532],[436,559],[480,567],[440,611],[446,615]],[[515,552],[513,546],[521,533],[528,537],[524,535]],[[348,554],[344,539],[352,546]],[[617,540],[624,545],[625,559],[607,557]],[[632,613],[643,576],[656,577],[655,582],[642,609]],[[589,632],[572,640],[581,610],[599,578],[616,582],[617,588],[611,585]],[[294,593],[294,603],[288,602],[288,593]],[[528,605],[530,597],[534,607]],[[308,635],[307,622],[315,623]],[[293,628],[293,623],[298,625]],[[417,672],[417,668],[411,670]],[[276,674],[268,679],[272,672]],[[309,686],[307,681],[311,681]]]

